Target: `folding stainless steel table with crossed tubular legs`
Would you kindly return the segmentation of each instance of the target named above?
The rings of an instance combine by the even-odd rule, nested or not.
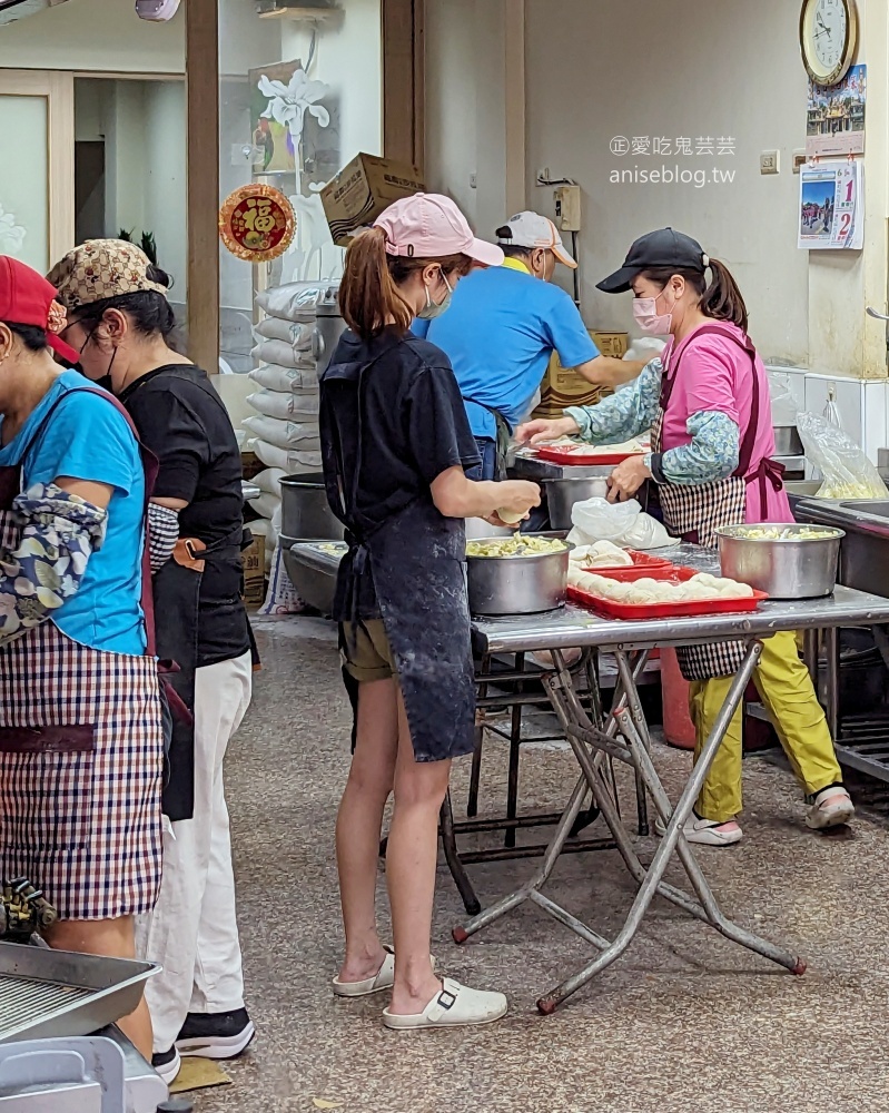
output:
[[[700,570],[718,569],[715,556],[697,546],[682,545],[672,550],[670,555],[679,563]],[[540,869],[521,888],[465,924],[455,927],[454,939],[464,943],[470,936],[513,908],[531,900],[590,943],[599,952],[597,955],[583,969],[567,977],[539,999],[537,1008],[544,1014],[554,1012],[571,994],[623,954],[633,940],[655,895],[670,900],[732,942],[770,958],[793,974],[802,974],[806,964],[798,955],[753,935],[725,916],[704,878],[691,846],[682,835],[682,827],[692,812],[717,750],[743,699],[762,651],[762,641],[781,630],[836,629],[840,626],[869,627],[881,622],[889,622],[889,599],[850,588],[837,588],[829,599],[768,602],[753,613],[674,619],[669,624],[660,619],[618,622],[573,605],[541,615],[476,620],[473,628],[474,637],[488,653],[553,651],[555,669],[545,678],[545,684],[555,713],[577,759],[581,776]],[[652,761],[648,727],[639,701],[635,676],[644,667],[649,652],[655,647],[735,640],[747,643],[744,661],[717,717],[713,731],[704,743],[700,760],[673,807]],[[565,668],[561,653],[562,650],[575,647],[606,649],[616,658],[621,690],[615,693],[612,710],[608,715],[591,717],[577,699],[573,678]],[[635,770],[666,825],[665,835],[648,867],[640,861],[633,841],[621,823],[612,787],[604,776],[605,757],[623,761]],[[542,892],[563,851],[581,804],[590,790],[628,870],[639,885],[626,920],[613,940],[603,938]],[[692,893],[664,881],[664,874],[674,856],[678,856],[688,875]]]

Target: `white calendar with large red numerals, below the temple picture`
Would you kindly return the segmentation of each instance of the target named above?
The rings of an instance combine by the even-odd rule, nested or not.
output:
[[[865,246],[865,167],[818,162],[800,170],[799,247],[861,250]]]

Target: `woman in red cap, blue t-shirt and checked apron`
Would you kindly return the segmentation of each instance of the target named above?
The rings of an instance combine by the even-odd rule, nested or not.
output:
[[[50,946],[131,958],[161,865],[151,476],[115,400],[55,363],[77,361],[55,297],[0,256],[0,881],[42,890]],[[144,1002],[120,1026],[151,1054]]]

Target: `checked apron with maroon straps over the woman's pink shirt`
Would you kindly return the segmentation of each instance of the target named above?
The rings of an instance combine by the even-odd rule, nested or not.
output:
[[[741,442],[738,467],[724,480],[715,480],[712,483],[662,483],[658,486],[658,494],[664,524],[674,536],[713,549],[717,545],[717,530],[727,525],[740,525],[747,520],[748,486],[751,483],[758,485],[760,508],[764,513],[767,483],[771,483],[776,491],[780,491],[783,485],[781,476],[784,469],[774,460],[764,457],[753,460],[759,429],[760,380],[757,374],[757,351],[750,338],[744,336],[741,339],[719,325],[704,325],[694,333],[690,343],[707,334],[724,336],[742,347],[750,356],[753,375],[751,413]],[[679,353],[674,366],[664,368],[661,402],[651,442],[653,452],[663,451],[664,417],[685,351],[686,348],[683,348]],[[737,672],[743,661],[744,652],[743,642],[725,642],[678,649],[676,658],[686,680],[709,680],[711,677],[728,677]]]

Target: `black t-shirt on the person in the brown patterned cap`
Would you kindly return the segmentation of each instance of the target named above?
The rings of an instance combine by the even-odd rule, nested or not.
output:
[[[179,535],[207,545],[231,536],[239,545],[244,525],[240,451],[207,373],[191,364],[158,367],[130,384],[120,401],[140,440],[160,462],[155,498],[188,503],[179,512]],[[239,549],[206,562],[200,582],[199,667],[229,661],[249,649],[241,574]]]

